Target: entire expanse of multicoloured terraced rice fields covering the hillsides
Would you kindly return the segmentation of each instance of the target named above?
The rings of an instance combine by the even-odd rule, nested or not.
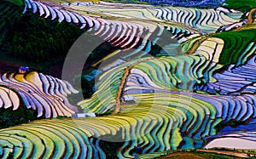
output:
[[[147,158],[167,150],[256,150],[252,16],[246,19],[247,13],[224,6],[55,0],[25,0],[20,14],[28,12],[74,23],[115,50],[93,65],[108,60],[98,68],[102,73],[94,79],[94,94],[77,105],[67,98],[79,94],[70,82],[38,71],[1,75],[0,108],[15,111],[22,102],[38,117],[54,117],[0,129],[2,158],[108,158],[109,153]],[[156,46],[166,54],[149,54]],[[101,116],[55,119],[83,112]],[[232,120],[243,124],[217,129]],[[119,146],[109,152],[107,145],[114,142]]]

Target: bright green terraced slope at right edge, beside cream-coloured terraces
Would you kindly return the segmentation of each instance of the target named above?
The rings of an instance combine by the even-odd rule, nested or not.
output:
[[[220,55],[219,64],[236,64],[247,45],[255,41],[256,30],[227,31],[213,34],[211,37],[219,37],[224,40],[224,49]]]

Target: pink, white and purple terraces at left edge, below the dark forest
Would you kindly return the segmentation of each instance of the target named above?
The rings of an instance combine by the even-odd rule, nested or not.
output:
[[[78,108],[67,100],[67,94],[77,94],[70,83],[36,71],[28,74],[5,73],[0,78],[0,107],[16,110],[20,98],[27,109],[38,111],[39,116],[72,116]]]

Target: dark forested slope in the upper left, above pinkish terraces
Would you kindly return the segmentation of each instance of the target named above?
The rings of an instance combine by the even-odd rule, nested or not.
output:
[[[69,48],[84,32],[72,23],[44,19],[31,11],[22,14],[24,6],[15,3],[3,1],[0,9],[3,68],[8,61],[49,74],[52,67],[63,65]]]

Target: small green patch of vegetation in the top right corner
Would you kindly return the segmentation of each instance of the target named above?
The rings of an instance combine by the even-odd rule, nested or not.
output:
[[[249,12],[251,9],[256,8],[256,1],[255,0],[225,0],[227,6],[224,6],[227,9],[236,9],[240,10],[243,13]]]

